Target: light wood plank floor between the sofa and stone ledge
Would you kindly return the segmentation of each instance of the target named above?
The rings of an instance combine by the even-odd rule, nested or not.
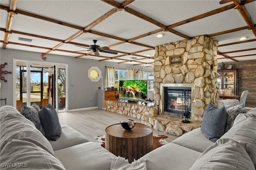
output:
[[[141,123],[140,119],[101,109],[58,113],[58,117],[60,125],[68,125],[74,128],[92,142],[96,142],[96,139],[94,139],[95,136],[102,136],[105,134],[106,127],[120,123],[120,121],[132,119],[137,123]],[[122,128],[121,125],[120,128]],[[153,135],[166,135],[168,136],[166,139],[167,142],[172,142],[172,140],[178,138],[178,136],[166,134],[157,130],[153,130]]]

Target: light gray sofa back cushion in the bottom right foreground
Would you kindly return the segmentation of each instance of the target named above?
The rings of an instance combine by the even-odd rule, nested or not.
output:
[[[234,140],[220,138],[207,148],[190,170],[254,170],[254,164],[244,147]]]

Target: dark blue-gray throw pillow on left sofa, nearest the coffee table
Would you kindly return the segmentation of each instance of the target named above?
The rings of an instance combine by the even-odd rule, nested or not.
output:
[[[44,127],[45,137],[49,140],[57,140],[62,129],[54,107],[49,103],[39,111],[39,116]]]

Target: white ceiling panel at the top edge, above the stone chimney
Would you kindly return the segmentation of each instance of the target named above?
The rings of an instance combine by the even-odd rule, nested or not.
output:
[[[221,7],[223,5],[213,0],[136,0],[129,5],[166,26]]]

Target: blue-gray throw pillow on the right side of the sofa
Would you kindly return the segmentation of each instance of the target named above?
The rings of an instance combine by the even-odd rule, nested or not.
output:
[[[226,120],[226,108],[216,108],[209,103],[204,111],[201,131],[209,140],[216,142],[225,133]]]

